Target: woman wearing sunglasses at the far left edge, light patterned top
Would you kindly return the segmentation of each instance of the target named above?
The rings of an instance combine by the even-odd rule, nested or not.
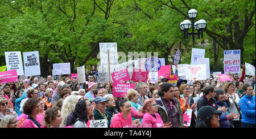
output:
[[[3,119],[6,115],[14,115],[18,118],[16,112],[9,108],[9,103],[6,98],[0,98],[0,118]]]

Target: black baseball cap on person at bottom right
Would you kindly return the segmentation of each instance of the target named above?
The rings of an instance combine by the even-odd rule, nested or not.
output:
[[[200,108],[200,110],[198,111],[197,115],[199,116],[199,118],[206,118],[209,115],[212,114],[218,114],[221,115],[222,111],[217,111],[215,110],[215,108],[211,107],[211,106],[203,106]]]

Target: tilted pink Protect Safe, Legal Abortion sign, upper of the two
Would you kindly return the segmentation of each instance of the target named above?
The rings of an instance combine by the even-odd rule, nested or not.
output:
[[[112,79],[114,82],[116,83],[123,83],[125,81],[128,81],[130,80],[130,75],[129,75],[129,72],[126,69],[122,69],[121,71],[118,71],[118,72],[114,72],[111,74],[112,76]]]

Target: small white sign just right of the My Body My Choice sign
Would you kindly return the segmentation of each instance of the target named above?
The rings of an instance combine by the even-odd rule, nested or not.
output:
[[[52,69],[52,75],[68,75],[71,74],[70,63],[54,63]]]

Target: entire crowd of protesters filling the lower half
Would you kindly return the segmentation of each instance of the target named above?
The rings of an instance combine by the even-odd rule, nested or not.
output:
[[[49,75],[42,82],[30,76],[1,84],[2,128],[90,128],[90,121],[105,119],[109,128],[255,128],[255,76],[244,84],[242,76],[232,81],[177,80],[133,82],[123,97],[114,97],[113,82],[98,83],[98,71],[86,69],[84,84],[77,79]],[[175,71],[175,74],[177,75]],[[1,79],[0,79],[1,80]],[[191,125],[183,114],[192,109]]]

